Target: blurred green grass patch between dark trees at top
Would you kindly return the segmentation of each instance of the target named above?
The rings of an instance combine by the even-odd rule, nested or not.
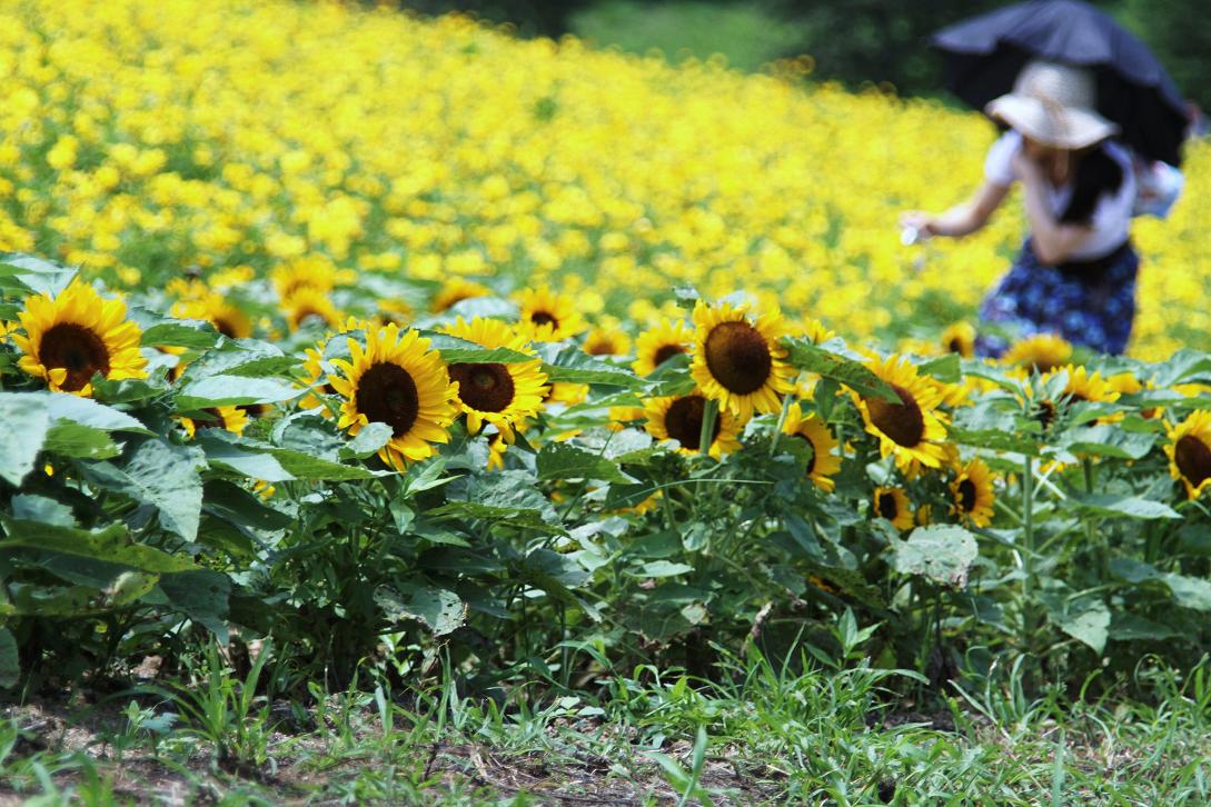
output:
[[[754,70],[802,42],[803,33],[746,2],[638,2],[606,0],[573,15],[572,30],[598,45],[673,60],[716,53],[741,70]]]

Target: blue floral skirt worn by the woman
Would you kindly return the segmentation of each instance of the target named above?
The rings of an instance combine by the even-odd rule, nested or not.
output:
[[[1020,336],[1058,334],[1100,353],[1121,353],[1135,319],[1140,255],[1130,243],[1092,265],[1044,266],[1029,240],[1014,266],[980,305],[981,323]],[[1005,338],[981,334],[976,353],[998,357]]]

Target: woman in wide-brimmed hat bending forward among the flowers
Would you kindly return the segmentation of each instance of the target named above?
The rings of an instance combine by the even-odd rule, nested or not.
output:
[[[1020,180],[1031,234],[980,318],[1021,336],[1058,334],[1121,353],[1140,267],[1129,238],[1136,185],[1130,152],[1110,139],[1118,127],[1094,110],[1095,92],[1087,70],[1027,64],[1014,92],[986,108],[1011,128],[988,150],[980,190],[940,215],[906,213],[901,225],[922,236],[975,232]],[[1005,347],[999,335],[976,341],[983,356]]]

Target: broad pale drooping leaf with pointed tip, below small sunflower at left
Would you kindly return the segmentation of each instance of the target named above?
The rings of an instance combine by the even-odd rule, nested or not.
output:
[[[97,462],[85,468],[85,475],[102,488],[155,507],[166,530],[193,541],[202,509],[199,469],[205,466],[206,455],[200,448],[154,439],[139,445],[125,465]]]

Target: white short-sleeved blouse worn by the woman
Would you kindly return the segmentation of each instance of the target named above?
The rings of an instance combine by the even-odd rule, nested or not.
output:
[[[1069,260],[1094,260],[1113,252],[1127,238],[1131,226],[1131,208],[1135,204],[1136,181],[1131,166],[1131,154],[1119,143],[1109,140],[1104,144],[1106,152],[1123,168],[1123,184],[1114,194],[1103,194],[1094,208],[1091,219],[1092,234],[1073,249]],[[985,158],[985,178],[995,185],[1012,185],[1017,179],[1014,172],[1014,155],[1022,149],[1020,132],[1009,129],[1000,136]],[[1057,219],[1072,200],[1072,183],[1055,188],[1045,184],[1048,207]]]

